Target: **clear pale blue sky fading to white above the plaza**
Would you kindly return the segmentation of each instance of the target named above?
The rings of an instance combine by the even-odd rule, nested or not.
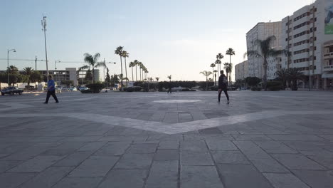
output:
[[[117,46],[129,53],[127,62],[144,63],[149,77],[205,80],[217,53],[233,48],[233,65],[243,61],[245,33],[258,22],[280,21],[312,0],[0,0],[0,58],[45,60],[41,19],[47,16],[49,69],[54,61],[83,61],[83,53],[100,53],[110,73],[120,73]],[[222,63],[228,62],[225,56]],[[0,69],[6,69],[0,60]],[[22,69],[29,61],[10,61]],[[80,63],[58,63],[57,68]],[[46,69],[38,63],[38,69]],[[125,73],[124,73],[125,74]],[[132,73],[127,68],[129,79]],[[233,73],[234,75],[234,73]]]

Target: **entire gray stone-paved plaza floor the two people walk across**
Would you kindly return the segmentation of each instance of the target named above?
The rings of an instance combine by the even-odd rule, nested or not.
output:
[[[0,187],[333,187],[332,92],[0,96]]]

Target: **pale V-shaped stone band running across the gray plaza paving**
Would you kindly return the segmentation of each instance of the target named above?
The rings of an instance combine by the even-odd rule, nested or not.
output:
[[[73,117],[80,120],[89,120],[93,122],[100,122],[109,125],[118,125],[122,127],[131,127],[139,130],[148,130],[153,132],[161,132],[164,134],[179,134],[182,132],[189,132],[194,130],[201,130],[211,127],[218,127],[223,125],[232,125],[239,122],[248,122],[253,120],[262,120],[265,118],[278,117],[282,115],[333,115],[333,111],[282,111],[282,110],[268,110],[258,113],[247,113],[243,115],[233,115],[227,117],[217,117],[208,120],[197,120],[193,122],[181,122],[174,124],[167,124],[163,122],[152,122],[145,120],[134,120],[124,117],[116,117],[111,115],[99,115],[91,113],[57,113],[57,114],[6,114],[0,117]]]

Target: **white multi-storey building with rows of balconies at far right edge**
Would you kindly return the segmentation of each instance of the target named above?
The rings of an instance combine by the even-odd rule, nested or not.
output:
[[[333,87],[332,15],[333,0],[317,0],[282,19],[281,43],[291,53],[282,68],[301,68],[307,80],[300,87]]]

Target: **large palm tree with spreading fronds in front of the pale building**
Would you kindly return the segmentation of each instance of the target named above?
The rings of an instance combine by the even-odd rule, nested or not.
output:
[[[263,58],[263,68],[264,68],[264,88],[267,90],[267,67],[268,67],[268,58],[276,57],[282,53],[286,53],[285,50],[275,50],[272,48],[272,43],[276,39],[275,36],[269,36],[265,40],[256,40],[255,43],[259,47],[260,51],[248,51],[244,54],[245,56],[255,56]]]

